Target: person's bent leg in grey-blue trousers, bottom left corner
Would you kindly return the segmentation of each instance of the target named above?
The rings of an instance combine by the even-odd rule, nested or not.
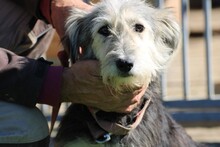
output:
[[[0,147],[46,147],[48,136],[47,120],[38,108],[0,101]]]

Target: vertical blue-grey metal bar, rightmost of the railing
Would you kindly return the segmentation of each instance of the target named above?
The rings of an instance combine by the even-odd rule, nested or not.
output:
[[[206,46],[206,71],[207,71],[207,95],[212,98],[214,94],[213,80],[212,80],[212,26],[211,26],[211,10],[212,1],[203,0],[203,9],[205,15],[205,46]]]

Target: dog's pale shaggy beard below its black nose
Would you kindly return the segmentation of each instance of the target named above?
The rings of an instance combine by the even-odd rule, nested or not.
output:
[[[119,93],[132,92],[143,86],[147,87],[152,80],[152,74],[147,70],[140,72],[140,69],[132,69],[125,76],[121,74],[113,62],[106,64],[101,61],[100,63],[103,83]]]

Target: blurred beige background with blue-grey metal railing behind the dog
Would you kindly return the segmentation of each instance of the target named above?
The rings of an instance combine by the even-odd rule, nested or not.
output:
[[[220,0],[149,2],[155,7],[171,7],[183,33],[176,56],[161,75],[164,105],[194,140],[220,146]],[[55,33],[46,54],[54,65],[60,65],[60,50]],[[60,115],[67,105],[63,104]],[[40,107],[50,115],[50,108]]]

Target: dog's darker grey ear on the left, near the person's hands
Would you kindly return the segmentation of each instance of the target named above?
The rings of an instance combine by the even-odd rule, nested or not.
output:
[[[79,58],[80,33],[82,31],[83,18],[88,12],[73,9],[66,22],[66,40],[70,50],[70,59],[74,63]]]

